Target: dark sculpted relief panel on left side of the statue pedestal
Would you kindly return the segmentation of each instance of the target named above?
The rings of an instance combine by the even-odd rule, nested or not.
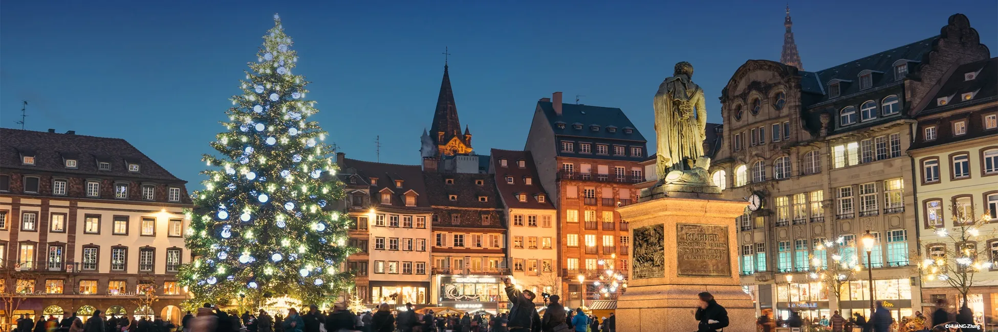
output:
[[[666,276],[666,227],[653,224],[634,228],[632,279]]]

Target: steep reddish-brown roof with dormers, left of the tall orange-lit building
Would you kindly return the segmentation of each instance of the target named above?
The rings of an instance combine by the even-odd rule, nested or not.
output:
[[[502,200],[508,207],[512,208],[546,208],[554,209],[550,196],[541,186],[540,176],[537,175],[537,168],[534,166],[534,157],[530,152],[509,151],[492,149],[492,166],[495,169],[495,183]],[[499,164],[500,160],[507,161],[506,166]],[[517,161],[524,161],[524,167],[517,165]],[[506,182],[506,176],[513,176],[513,184]],[[532,184],[526,184],[524,177],[530,176]],[[526,193],[527,201],[517,199],[517,193]],[[544,194],[544,202],[537,201],[537,195]]]

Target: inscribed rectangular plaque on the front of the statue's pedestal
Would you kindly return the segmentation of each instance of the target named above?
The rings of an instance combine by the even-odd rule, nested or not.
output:
[[[732,276],[728,226],[677,223],[676,242],[680,276]]]

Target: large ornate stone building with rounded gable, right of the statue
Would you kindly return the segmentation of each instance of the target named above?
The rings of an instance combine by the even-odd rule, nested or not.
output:
[[[866,312],[869,289],[859,280],[872,266],[876,299],[895,316],[920,309],[908,266],[917,251],[909,112],[951,66],[988,57],[956,14],[938,36],[828,69],[749,60],[735,72],[722,92],[712,176],[728,198],[760,197],[737,221],[743,282],[760,308]],[[877,238],[870,261],[856,244],[867,230]],[[841,308],[810,279],[812,255],[861,265]]]

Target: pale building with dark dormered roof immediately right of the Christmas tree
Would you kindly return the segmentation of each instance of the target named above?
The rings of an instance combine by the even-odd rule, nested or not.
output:
[[[347,257],[365,303],[429,304],[430,200],[420,166],[370,163],[336,155],[355,220]],[[364,282],[366,281],[366,282]],[[369,290],[368,290],[369,287]]]

